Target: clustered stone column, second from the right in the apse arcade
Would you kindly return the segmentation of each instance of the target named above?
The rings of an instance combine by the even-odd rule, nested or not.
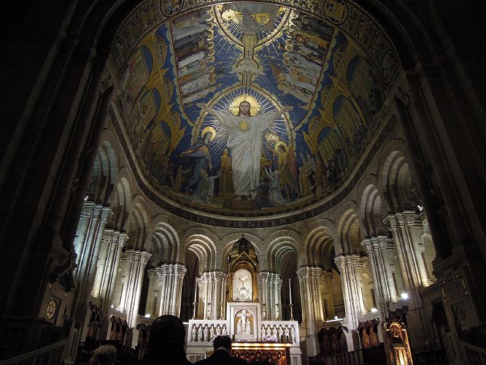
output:
[[[376,309],[380,321],[385,321],[388,308],[396,302],[396,288],[393,281],[389,256],[394,252],[392,239],[387,236],[365,238],[361,245],[367,250],[375,290]]]

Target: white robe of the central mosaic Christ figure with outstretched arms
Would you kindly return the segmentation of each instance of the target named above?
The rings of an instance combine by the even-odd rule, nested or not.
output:
[[[228,148],[231,149],[233,186],[236,195],[251,195],[254,199],[260,182],[260,156],[262,154],[263,131],[273,122],[278,111],[255,117],[228,115],[215,111],[230,136]],[[242,128],[242,122],[246,127]]]

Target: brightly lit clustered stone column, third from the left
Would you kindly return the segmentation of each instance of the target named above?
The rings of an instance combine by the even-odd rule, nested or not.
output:
[[[128,263],[128,279],[124,289],[126,321],[129,327],[135,327],[138,321],[138,307],[140,305],[140,291],[144,278],[145,265],[151,254],[146,251],[128,249],[121,255],[121,261]]]

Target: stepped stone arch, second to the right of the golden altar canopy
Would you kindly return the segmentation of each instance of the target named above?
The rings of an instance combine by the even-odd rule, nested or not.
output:
[[[330,220],[319,219],[305,229],[302,234],[305,259],[301,259],[301,266],[333,266],[334,224]]]

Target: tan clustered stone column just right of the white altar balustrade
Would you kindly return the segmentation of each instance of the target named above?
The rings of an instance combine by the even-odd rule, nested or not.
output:
[[[308,356],[316,356],[319,352],[317,346],[317,330],[319,322],[324,321],[322,313],[321,280],[322,268],[317,266],[303,266],[296,271],[301,286],[302,314],[307,332],[307,353]]]

